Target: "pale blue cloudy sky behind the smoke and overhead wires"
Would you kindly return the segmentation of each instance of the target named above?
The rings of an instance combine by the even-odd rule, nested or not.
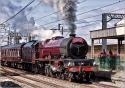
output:
[[[0,23],[2,23],[9,17],[16,14],[30,1],[32,0],[1,0],[0,1],[0,17],[1,17]],[[18,14],[15,18],[8,21],[6,25],[10,28],[10,30],[13,31],[14,29],[16,29],[17,32],[20,32],[25,36],[27,34],[34,34],[34,30],[35,30],[35,34],[38,33],[39,35],[43,35],[40,37],[44,37],[44,38],[49,38],[45,36],[49,36],[50,34],[51,34],[51,37],[55,35],[61,35],[59,31],[56,32],[54,35],[52,35],[52,31],[49,30],[51,28],[57,28],[58,24],[60,23],[62,24],[61,26],[64,27],[64,30],[68,31],[67,25],[65,24],[64,21],[57,21],[63,18],[62,13],[58,12],[53,15],[47,16],[48,14],[54,13],[58,10],[58,8],[55,7],[55,4],[52,3],[53,1],[54,0],[35,0],[30,6],[28,6],[24,11]],[[99,14],[113,12],[113,11],[116,13],[125,13],[125,9],[123,9],[125,8],[124,6],[125,1],[105,8],[90,11],[82,15],[79,15],[79,14],[89,11],[91,9],[96,9],[111,3],[115,3],[118,1],[120,0],[77,0],[77,8],[76,8],[77,19],[75,22],[77,26],[75,33],[77,34],[77,36],[81,36],[85,38],[90,44],[91,40],[90,40],[89,31],[101,29],[101,15]],[[121,10],[118,10],[118,9],[121,9]],[[115,11],[115,10],[118,10],[118,11]],[[99,16],[91,17],[95,15],[99,15]],[[98,21],[94,23],[94,21],[96,20]],[[57,21],[57,22],[51,23],[53,21]],[[114,21],[114,22],[117,22],[117,21]],[[89,24],[92,24],[92,25],[89,25]],[[89,25],[89,26],[86,26],[86,25]],[[108,27],[112,27],[112,26],[113,26],[113,22],[108,24]],[[45,35],[45,33],[47,34]],[[64,32],[65,37],[67,37],[68,34],[69,32]],[[2,35],[4,34],[0,34],[0,36]],[[96,42],[99,43],[99,41],[96,41]]]

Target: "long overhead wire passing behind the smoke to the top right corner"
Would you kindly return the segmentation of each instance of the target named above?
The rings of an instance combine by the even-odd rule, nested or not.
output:
[[[125,0],[120,0],[120,1],[117,1],[117,2],[114,2],[114,3],[111,3],[111,4],[108,4],[108,5],[105,5],[105,6],[101,6],[101,7],[99,7],[99,8],[92,9],[92,10],[89,10],[89,11],[86,11],[86,12],[83,12],[83,13],[80,13],[80,14],[77,14],[77,16],[83,15],[83,14],[85,14],[85,13],[89,13],[89,12],[92,12],[92,11],[95,11],[95,10],[98,10],[98,9],[101,9],[101,8],[109,7],[109,6],[112,6],[112,5],[115,5],[115,4],[124,2],[124,1],[125,1]],[[98,15],[97,15],[97,16],[98,16]],[[58,21],[65,20],[65,19],[66,19],[66,18],[59,19],[59,20],[56,20],[56,21],[51,21],[51,22],[45,23],[45,24],[43,24],[43,25],[49,25],[49,24],[52,24],[52,23],[56,23],[56,22],[58,22]],[[40,26],[43,26],[43,25],[40,25]]]

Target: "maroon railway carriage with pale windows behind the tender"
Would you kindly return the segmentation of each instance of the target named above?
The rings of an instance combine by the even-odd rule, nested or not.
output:
[[[22,62],[22,44],[6,45],[1,47],[1,64],[17,67]]]

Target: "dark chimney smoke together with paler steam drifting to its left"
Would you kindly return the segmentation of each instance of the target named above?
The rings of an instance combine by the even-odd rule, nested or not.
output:
[[[56,10],[60,11],[65,23],[68,25],[68,29],[71,34],[76,30],[76,9],[77,0],[42,0],[44,3],[56,7]]]

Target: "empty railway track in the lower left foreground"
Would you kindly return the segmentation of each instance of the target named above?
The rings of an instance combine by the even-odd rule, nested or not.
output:
[[[10,79],[13,79],[13,80],[16,80],[18,82],[30,85],[34,88],[45,88],[45,87],[42,87],[43,84],[49,85],[52,88],[65,88],[63,86],[53,84],[53,83],[50,83],[50,82],[46,82],[46,81],[43,81],[43,80],[40,80],[40,79],[36,79],[34,77],[28,77],[28,76],[25,76],[23,74],[18,74],[17,72],[11,72],[11,71],[8,71],[7,69],[1,69],[1,71],[5,72],[6,77],[8,77]],[[41,84],[42,86],[39,86],[38,84]]]

